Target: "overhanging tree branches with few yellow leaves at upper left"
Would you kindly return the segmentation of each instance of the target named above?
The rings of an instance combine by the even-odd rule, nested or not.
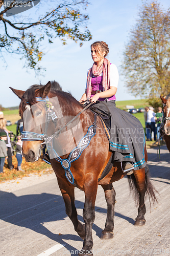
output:
[[[86,0],[22,0],[27,7],[37,5],[32,8],[34,14],[27,16],[27,11],[9,14],[15,13],[13,8],[18,7],[18,2],[0,0],[1,57],[5,58],[7,52],[19,54],[20,58],[26,60],[25,67],[37,72],[40,71],[39,61],[44,54],[43,40],[47,39],[52,44],[54,38],[59,37],[66,44],[69,38],[80,41],[81,46],[83,41],[91,39],[86,24],[89,17],[83,13],[88,5]],[[37,12],[41,15],[38,16]]]

